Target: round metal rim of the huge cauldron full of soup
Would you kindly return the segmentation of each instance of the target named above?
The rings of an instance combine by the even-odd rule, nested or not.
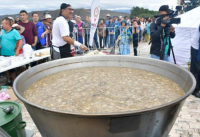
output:
[[[108,55],[109,56],[109,55]],[[108,56],[95,56],[95,57],[108,57]],[[110,55],[112,57],[118,57],[119,55]],[[95,58],[93,56],[93,58]],[[120,56],[120,57],[125,57],[125,58],[129,58],[131,56]],[[56,60],[54,62],[59,62],[59,61],[62,61],[62,60],[75,60],[75,59],[80,59],[80,58],[90,58],[90,57],[73,57],[73,58],[67,58],[67,59],[60,59],[60,60]],[[194,76],[189,73],[186,69],[184,68],[181,68],[175,64],[171,64],[171,63],[168,63],[168,62],[164,62],[164,61],[160,61],[160,60],[155,60],[155,59],[151,59],[151,58],[144,58],[144,57],[131,57],[131,58],[139,58],[139,59],[147,59],[147,60],[151,60],[151,61],[155,61],[155,62],[160,62],[160,63],[164,63],[164,64],[168,64],[168,65],[172,65],[174,67],[178,67],[179,69],[181,69],[182,71],[185,71],[186,73],[188,73],[190,75],[190,77],[192,78],[193,80],[193,85],[192,87],[190,88],[190,90],[185,93],[182,97],[172,101],[172,102],[169,102],[169,103],[165,103],[165,104],[162,104],[162,105],[159,105],[159,106],[155,106],[155,107],[151,107],[151,108],[147,108],[147,109],[141,109],[141,110],[133,110],[133,111],[124,111],[124,112],[114,112],[114,113],[78,113],[78,112],[70,112],[70,111],[58,111],[58,110],[55,110],[55,109],[50,109],[50,108],[47,108],[47,107],[43,107],[43,106],[40,106],[40,105],[37,105],[37,104],[34,104],[32,102],[30,102],[29,100],[25,99],[23,96],[21,96],[18,91],[17,91],[17,81],[18,79],[23,76],[27,71],[31,71],[32,69],[36,68],[36,67],[40,67],[41,65],[45,65],[45,64],[48,64],[48,63],[51,63],[51,62],[47,62],[47,63],[43,63],[41,65],[38,65],[34,68],[31,68],[23,73],[21,73],[14,81],[13,83],[13,90],[14,90],[14,93],[15,95],[24,103],[24,104],[28,104],[28,105],[31,105],[33,107],[36,107],[40,110],[43,110],[43,111],[46,111],[48,113],[53,113],[53,114],[57,114],[57,115],[71,115],[71,116],[77,116],[77,117],[122,117],[122,116],[129,116],[129,115],[139,115],[139,114],[143,114],[143,113],[149,113],[149,112],[154,112],[156,110],[160,110],[160,109],[164,109],[166,107],[169,107],[169,106],[173,106],[173,105],[176,105],[178,104],[179,102],[185,100],[195,89],[195,86],[196,86],[196,80],[194,78]]]

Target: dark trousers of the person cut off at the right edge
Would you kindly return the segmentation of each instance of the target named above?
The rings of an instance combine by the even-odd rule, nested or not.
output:
[[[197,85],[194,93],[198,93],[200,90],[200,62],[197,61],[198,50],[191,48],[191,66],[190,71],[194,75]]]

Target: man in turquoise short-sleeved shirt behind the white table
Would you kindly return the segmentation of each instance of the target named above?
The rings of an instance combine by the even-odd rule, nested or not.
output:
[[[17,32],[17,30],[12,28],[11,20],[9,18],[3,19],[2,27],[3,30],[0,33],[1,56],[18,56],[23,44],[20,34]],[[15,50],[17,41],[19,41],[19,46]],[[7,71],[6,85],[11,85],[10,73],[12,74],[12,80],[14,81],[15,79],[14,70]]]

